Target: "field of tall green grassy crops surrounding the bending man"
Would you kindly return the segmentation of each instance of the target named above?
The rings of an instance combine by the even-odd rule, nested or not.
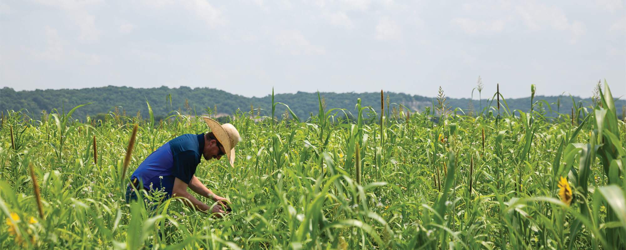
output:
[[[557,120],[505,105],[456,116],[440,94],[438,111],[382,118],[354,100],[352,121],[321,99],[306,118],[281,103],[235,114],[235,168],[202,161],[195,174],[232,202],[223,219],[123,200],[153,150],[207,131],[199,118],[5,111],[0,249],[625,249],[626,125],[608,88]]]

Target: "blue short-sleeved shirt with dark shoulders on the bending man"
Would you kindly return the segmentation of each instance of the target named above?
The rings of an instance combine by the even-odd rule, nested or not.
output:
[[[172,196],[176,178],[189,184],[200,164],[204,149],[204,134],[183,134],[156,149],[133,172],[148,190],[163,190]]]

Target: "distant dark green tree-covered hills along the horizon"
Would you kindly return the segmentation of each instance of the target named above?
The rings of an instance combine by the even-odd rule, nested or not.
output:
[[[445,90],[445,89],[444,89]],[[269,91],[269,90],[268,90]],[[484,92],[484,91],[483,91]],[[436,94],[436,93],[428,93]],[[530,93],[529,93],[530,94]],[[357,99],[361,98],[362,106],[371,106],[376,113],[381,109],[380,93],[319,93],[323,106],[326,109],[341,108],[346,109],[354,114]],[[506,93],[502,93],[506,98]],[[448,98],[446,103],[454,111],[462,109],[466,114],[477,115],[482,107],[485,114],[496,107],[496,101],[491,100],[494,93],[482,93],[482,102],[478,101],[478,94],[470,102],[468,98]],[[137,113],[143,118],[148,116],[148,106],[146,100],[150,103],[153,114],[158,118],[165,118],[178,111],[182,114],[215,114],[218,116],[233,114],[239,109],[242,113],[249,112],[254,109],[257,113],[260,110],[261,116],[270,116],[272,112],[272,96],[271,94],[263,98],[247,98],[237,94],[230,94],[225,91],[212,88],[161,88],[136,89],[128,87],[108,86],[103,88],[87,88],[87,89],[59,89],[59,90],[35,90],[35,91],[14,91],[11,88],[0,89],[0,110],[1,111],[28,111],[34,118],[41,111],[51,112],[57,109],[65,113],[80,104],[91,103],[76,110],[73,114],[74,118],[86,116],[96,116],[115,112],[126,113],[126,116],[136,116]],[[570,114],[573,104],[577,106],[590,106],[592,98],[582,99],[570,96],[535,96],[534,101],[544,100],[536,109],[544,109],[547,116],[554,116],[556,112]],[[530,110],[530,97],[518,99],[505,99],[506,105],[510,111],[519,109],[527,112]],[[319,99],[317,93],[298,92],[295,94],[276,94],[274,102],[280,102],[289,105],[289,108],[300,118],[307,119],[311,114],[316,115],[319,111]],[[501,103],[504,104],[503,101]],[[547,103],[547,104],[546,104]],[[388,104],[388,106],[387,106]],[[425,96],[404,93],[385,93],[386,110],[389,113],[394,111],[398,114],[401,110],[406,113],[406,109],[411,112],[424,111],[428,107],[438,104],[436,98],[427,98]],[[550,108],[555,112],[550,114]],[[559,105],[557,105],[559,104]],[[618,110],[626,104],[624,100],[615,102]],[[404,106],[401,108],[401,106]],[[492,108],[487,108],[487,107]],[[504,109],[504,105],[501,107]],[[216,110],[217,109],[217,110]],[[431,108],[431,111],[433,109]],[[460,114],[460,111],[457,111]],[[497,111],[495,111],[497,112]],[[280,117],[285,113],[285,106],[276,105],[275,116]],[[618,112],[618,117],[622,114]]]

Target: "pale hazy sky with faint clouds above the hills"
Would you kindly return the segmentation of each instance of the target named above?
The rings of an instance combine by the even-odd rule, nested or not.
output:
[[[626,98],[626,1],[0,0],[0,88]],[[1,92],[0,92],[1,97]],[[623,99],[622,98],[622,99]]]

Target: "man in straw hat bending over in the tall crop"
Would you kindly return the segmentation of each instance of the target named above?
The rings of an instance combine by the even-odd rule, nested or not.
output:
[[[162,190],[171,197],[185,197],[185,204],[195,209],[216,214],[225,214],[230,211],[228,199],[220,197],[210,191],[198,178],[195,171],[200,159],[221,159],[226,156],[230,166],[235,162],[235,146],[241,140],[235,127],[226,123],[220,126],[217,121],[206,116],[202,117],[211,129],[207,134],[183,134],[168,141],[156,149],[139,168],[131,175],[132,183],[126,188],[126,202],[137,199],[134,188],[143,183],[148,193]],[[209,207],[187,192],[187,187],[201,196],[218,202]]]

